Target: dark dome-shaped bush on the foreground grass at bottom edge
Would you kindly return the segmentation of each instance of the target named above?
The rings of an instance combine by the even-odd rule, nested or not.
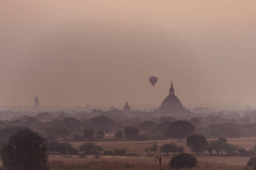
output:
[[[182,153],[171,159],[169,166],[171,168],[192,168],[196,167],[197,160],[195,156],[187,153]]]

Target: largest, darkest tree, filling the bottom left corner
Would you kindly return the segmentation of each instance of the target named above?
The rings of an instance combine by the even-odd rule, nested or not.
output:
[[[46,139],[30,129],[20,129],[1,148],[3,167],[10,170],[49,169],[46,152]]]

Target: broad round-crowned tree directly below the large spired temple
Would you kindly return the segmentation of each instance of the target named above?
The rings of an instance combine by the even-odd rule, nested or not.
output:
[[[188,121],[179,120],[171,122],[167,129],[166,137],[179,138],[181,140],[182,138],[192,134],[194,128],[195,127]]]

